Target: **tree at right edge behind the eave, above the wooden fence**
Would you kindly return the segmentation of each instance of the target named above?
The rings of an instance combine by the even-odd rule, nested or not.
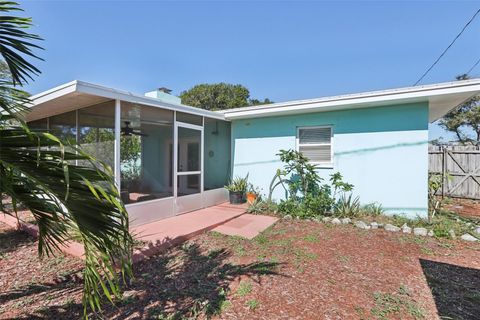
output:
[[[466,74],[456,77],[457,80],[467,80]],[[438,123],[447,131],[453,132],[458,141],[463,144],[480,144],[480,96],[465,101],[457,108],[447,113]]]

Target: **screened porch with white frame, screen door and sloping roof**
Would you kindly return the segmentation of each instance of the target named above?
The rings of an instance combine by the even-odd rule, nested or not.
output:
[[[223,115],[84,82],[68,85],[34,96],[27,121],[109,165],[132,225],[227,200],[231,139]]]

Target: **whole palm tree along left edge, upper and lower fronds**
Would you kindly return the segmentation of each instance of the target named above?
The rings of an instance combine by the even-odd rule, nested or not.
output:
[[[40,256],[72,239],[83,244],[87,317],[88,309],[101,310],[104,296],[113,302],[120,278],[131,275],[128,215],[108,166],[50,133],[30,131],[22,120],[29,101],[18,88],[40,73],[27,59],[39,59],[34,42],[41,38],[28,33],[31,19],[14,16],[18,11],[17,3],[0,1],[0,54],[10,73],[0,79],[0,212],[15,216],[20,203],[32,212]],[[90,166],[74,165],[77,159]],[[5,209],[7,197],[13,212]]]

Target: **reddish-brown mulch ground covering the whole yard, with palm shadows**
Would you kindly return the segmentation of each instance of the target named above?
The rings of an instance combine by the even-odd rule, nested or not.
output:
[[[82,263],[0,225],[0,319],[81,315]],[[480,319],[480,244],[281,220],[134,266],[107,319]]]

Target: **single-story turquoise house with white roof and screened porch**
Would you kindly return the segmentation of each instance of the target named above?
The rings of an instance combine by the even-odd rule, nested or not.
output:
[[[268,193],[280,149],[340,172],[364,204],[426,216],[428,124],[479,93],[473,79],[213,112],[72,81],[33,96],[26,120],[109,164],[133,225],[224,202],[233,176]]]

